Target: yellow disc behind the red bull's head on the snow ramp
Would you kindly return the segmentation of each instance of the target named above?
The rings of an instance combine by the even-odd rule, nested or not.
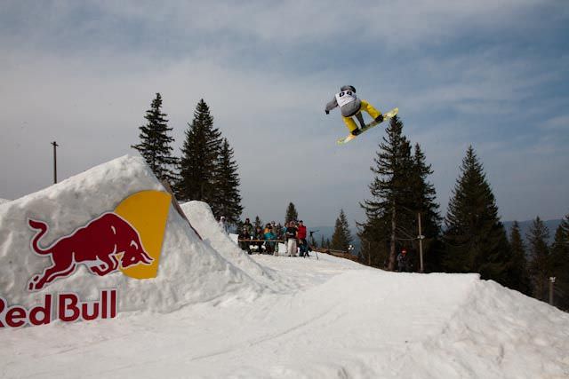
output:
[[[141,191],[127,197],[116,207],[115,213],[136,229],[143,249],[153,258],[150,265],[121,267],[124,275],[136,279],[156,278],[171,201],[170,193]]]

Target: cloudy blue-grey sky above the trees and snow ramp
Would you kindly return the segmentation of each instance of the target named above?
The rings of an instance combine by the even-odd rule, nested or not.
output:
[[[244,216],[362,221],[383,128],[347,146],[342,84],[435,173],[443,215],[474,146],[503,220],[569,213],[565,0],[2,1],[0,198],[124,154],[156,92],[176,154],[199,99],[239,165]]]

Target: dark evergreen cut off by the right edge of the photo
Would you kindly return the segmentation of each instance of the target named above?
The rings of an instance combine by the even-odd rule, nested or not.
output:
[[[554,305],[569,312],[569,215],[557,226],[551,247],[551,266],[556,278]]]

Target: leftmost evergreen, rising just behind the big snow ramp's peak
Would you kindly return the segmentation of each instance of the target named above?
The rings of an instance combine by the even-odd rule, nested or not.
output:
[[[156,178],[174,184],[177,180],[174,168],[178,164],[178,159],[172,156],[171,144],[174,138],[168,135],[172,128],[168,127],[166,114],[162,113],[161,109],[162,96],[156,93],[156,98],[152,100],[150,109],[144,116],[147,123],[139,128],[140,144],[131,147],[139,151]]]

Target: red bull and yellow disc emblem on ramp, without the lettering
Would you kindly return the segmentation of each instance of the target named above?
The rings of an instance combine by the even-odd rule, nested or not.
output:
[[[121,271],[137,279],[155,278],[172,197],[159,191],[134,193],[114,209],[76,228],[49,246],[41,241],[49,226],[28,218],[36,232],[30,242],[36,255],[50,257],[51,265],[28,281],[28,290],[45,288],[67,278],[84,265],[98,276]]]

